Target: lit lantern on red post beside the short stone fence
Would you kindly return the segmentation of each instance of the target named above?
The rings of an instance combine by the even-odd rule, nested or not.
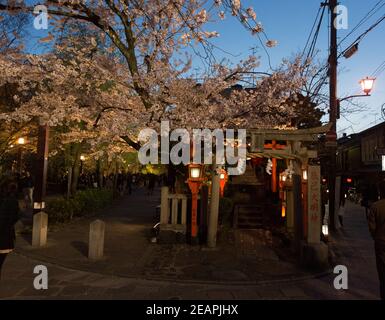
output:
[[[191,243],[196,243],[198,236],[198,193],[204,181],[203,167],[200,164],[190,163],[187,180],[191,191]]]

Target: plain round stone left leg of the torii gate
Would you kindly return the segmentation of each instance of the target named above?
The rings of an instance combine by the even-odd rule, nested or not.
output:
[[[211,184],[210,215],[207,233],[207,246],[215,248],[217,244],[218,214],[219,214],[220,175],[214,171]]]

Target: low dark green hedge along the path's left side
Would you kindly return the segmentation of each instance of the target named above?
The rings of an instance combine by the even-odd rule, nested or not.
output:
[[[74,197],[53,198],[47,201],[46,212],[51,223],[68,222],[73,217],[87,216],[112,202],[109,189],[87,189],[78,191]]]

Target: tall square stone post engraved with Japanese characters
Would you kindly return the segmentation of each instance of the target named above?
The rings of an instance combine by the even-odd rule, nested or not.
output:
[[[320,243],[321,235],[321,170],[308,167],[308,243]]]

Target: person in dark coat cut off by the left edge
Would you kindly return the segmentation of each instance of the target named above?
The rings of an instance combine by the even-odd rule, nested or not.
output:
[[[10,183],[0,199],[0,277],[7,255],[15,248],[15,224],[19,215],[17,185]]]

